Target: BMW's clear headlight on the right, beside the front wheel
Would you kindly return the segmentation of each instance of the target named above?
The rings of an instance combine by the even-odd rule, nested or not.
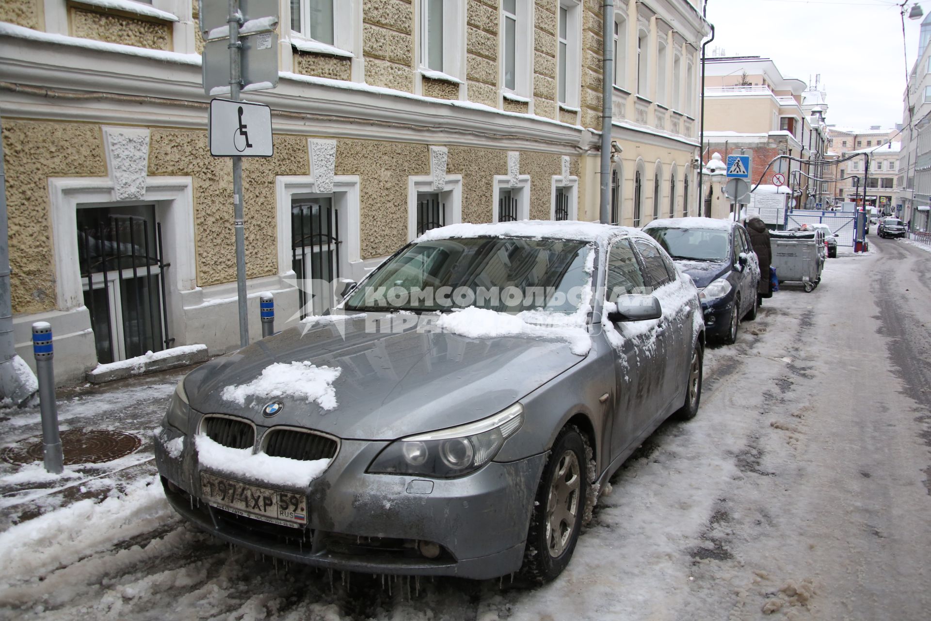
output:
[[[462,477],[492,461],[522,423],[523,406],[515,403],[476,423],[398,439],[372,460],[369,472]]]

